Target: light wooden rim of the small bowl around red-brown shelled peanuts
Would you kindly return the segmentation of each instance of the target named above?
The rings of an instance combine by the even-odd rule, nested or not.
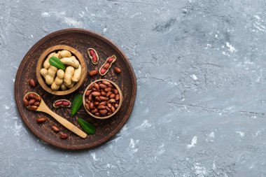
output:
[[[90,87],[90,85],[92,85],[92,84],[94,84],[94,83],[97,83],[97,82],[99,82],[99,81],[103,81],[103,80],[108,81],[109,83],[113,84],[113,85],[116,87],[116,89],[118,90],[119,96],[120,96],[120,99],[119,99],[120,101],[119,101],[119,104],[118,104],[118,108],[117,108],[116,111],[113,112],[111,115],[107,115],[107,116],[105,116],[105,117],[98,117],[98,116],[96,116],[96,115],[90,113],[90,111],[88,111],[88,110],[85,108],[85,93],[86,93],[86,91],[87,91],[87,88]],[[113,81],[111,81],[111,80],[107,80],[107,79],[99,79],[99,80],[95,80],[94,82],[90,83],[90,85],[88,85],[88,86],[86,87],[85,92],[84,92],[84,94],[83,94],[83,106],[84,106],[84,108],[85,108],[85,111],[87,111],[87,113],[89,113],[93,118],[97,118],[97,119],[107,119],[107,118],[111,118],[113,115],[115,115],[115,114],[119,111],[119,109],[121,108],[122,102],[123,102],[123,95],[122,95],[122,92],[121,92],[120,88],[118,87],[118,85],[116,85],[115,83],[113,83]]]

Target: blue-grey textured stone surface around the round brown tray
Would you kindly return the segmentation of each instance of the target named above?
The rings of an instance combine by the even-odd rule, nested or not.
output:
[[[265,1],[0,0],[0,176],[266,176]],[[69,152],[36,139],[14,104],[18,66],[52,31],[91,29],[137,76],[109,143]]]

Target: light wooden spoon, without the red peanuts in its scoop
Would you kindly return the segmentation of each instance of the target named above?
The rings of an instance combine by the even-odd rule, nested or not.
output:
[[[30,93],[36,94],[35,92],[28,92],[27,94],[30,94]],[[24,97],[26,97],[27,94],[25,94]],[[38,95],[38,94],[36,94],[36,95]],[[41,97],[41,96],[38,95],[38,97]],[[82,137],[83,139],[85,139],[87,137],[87,134],[85,134],[85,132],[83,132],[80,129],[78,129],[78,127],[73,125],[68,120],[66,120],[66,119],[62,118],[61,116],[57,115],[56,113],[52,112],[50,110],[50,108],[48,108],[48,106],[45,104],[43,99],[41,99],[40,105],[38,106],[38,108],[36,110],[32,110],[31,108],[29,108],[29,110],[31,110],[31,111],[40,111],[40,112],[43,112],[43,113],[48,113],[49,115],[52,116],[52,118],[55,118],[55,120],[57,120],[60,124],[62,124],[64,127],[66,127],[66,129],[69,129],[71,132],[77,134],[78,136]]]

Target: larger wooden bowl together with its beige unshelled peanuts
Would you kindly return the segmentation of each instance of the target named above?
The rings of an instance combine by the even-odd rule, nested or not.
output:
[[[55,95],[71,94],[84,84],[87,65],[83,55],[75,48],[55,45],[46,49],[39,57],[36,76],[43,90]]]

